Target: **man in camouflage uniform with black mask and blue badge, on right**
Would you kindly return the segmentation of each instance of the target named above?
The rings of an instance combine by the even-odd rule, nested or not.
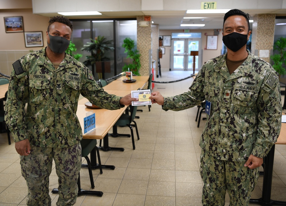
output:
[[[173,97],[152,92],[164,110],[184,110],[207,100],[209,114],[200,138],[202,204],[248,205],[258,168],[281,129],[278,74],[246,49],[249,15],[233,9],[225,14],[223,42],[227,54],[202,66],[190,91]]]

